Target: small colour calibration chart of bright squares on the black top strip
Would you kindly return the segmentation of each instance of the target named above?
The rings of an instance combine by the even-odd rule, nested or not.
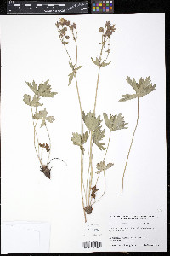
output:
[[[92,13],[96,14],[111,14],[113,13],[113,2],[114,1],[92,1]]]

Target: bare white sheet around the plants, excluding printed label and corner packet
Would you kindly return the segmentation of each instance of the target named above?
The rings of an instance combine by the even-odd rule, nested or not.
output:
[[[64,15],[62,15],[63,17]],[[71,68],[60,44],[55,22],[60,15],[1,15],[2,42],[2,219],[48,221],[51,223],[50,251],[80,252],[84,219],[80,193],[80,149],[71,142],[72,132],[81,131],[76,84],[70,87]],[[166,226],[166,137],[165,137],[165,53],[164,14],[67,15],[77,23],[78,83],[82,108],[94,109],[97,67],[90,57],[99,55],[98,29],[110,20],[116,24],[111,37],[111,65],[99,78],[96,113],[122,113],[128,129],[113,132],[106,161],[115,166],[106,172],[106,194],[88,216],[88,223],[100,224],[103,234],[113,214],[156,214],[161,209],[160,251],[167,250]],[[75,51],[71,47],[75,60]],[[139,127],[129,157],[124,193],[122,172],[137,118],[137,101],[120,103],[122,94],[133,93],[126,76],[151,77],[156,91],[139,99]],[[59,94],[44,101],[54,160],[51,180],[39,171],[33,147],[31,110],[22,101],[31,93],[26,81],[50,79]],[[109,131],[105,127],[105,143]],[[95,147],[94,166],[104,152]],[[100,180],[99,188],[102,188]],[[106,238],[105,238],[106,239]],[[111,251],[109,241],[103,251]],[[158,249],[158,250],[159,250]],[[115,248],[115,251],[120,248]],[[127,248],[122,247],[122,251]],[[139,251],[139,248],[136,249]],[[143,250],[143,248],[141,249]],[[147,248],[146,250],[157,250]]]

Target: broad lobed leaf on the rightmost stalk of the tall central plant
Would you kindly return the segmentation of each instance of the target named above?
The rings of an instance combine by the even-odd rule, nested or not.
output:
[[[110,113],[110,118],[108,118],[108,115],[106,113],[103,113],[104,119],[105,119],[105,125],[111,130],[111,131],[116,131],[116,130],[121,130],[121,129],[127,129],[125,127],[127,123],[124,121],[124,117],[122,116],[121,113],[118,115],[111,115]]]

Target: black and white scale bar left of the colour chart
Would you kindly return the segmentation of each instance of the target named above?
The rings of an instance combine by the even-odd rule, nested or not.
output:
[[[7,14],[88,14],[88,1],[7,1]]]

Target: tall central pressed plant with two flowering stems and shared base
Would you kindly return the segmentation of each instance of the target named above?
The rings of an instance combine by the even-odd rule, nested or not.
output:
[[[105,158],[108,152],[108,148],[111,141],[111,131],[126,129],[127,123],[125,123],[122,114],[112,115],[110,113],[110,117],[106,113],[103,113],[105,125],[110,129],[109,142],[107,147],[105,148],[105,143],[103,142],[103,138],[105,137],[105,129],[102,128],[102,119],[100,116],[96,116],[96,105],[97,105],[97,97],[99,90],[99,75],[101,68],[108,66],[111,64],[111,61],[107,61],[110,55],[110,40],[111,35],[115,32],[115,25],[111,25],[110,21],[105,23],[105,27],[99,28],[99,33],[101,35],[101,49],[99,52],[99,56],[95,59],[92,57],[91,60],[94,62],[94,65],[98,67],[97,74],[97,83],[94,97],[94,109],[93,111],[89,111],[85,113],[82,110],[82,103],[79,94],[79,86],[77,79],[77,71],[82,67],[78,65],[78,33],[77,33],[77,24],[72,23],[69,20],[61,18],[56,24],[57,30],[59,33],[59,39],[61,44],[63,44],[65,48],[65,52],[68,55],[69,65],[71,67],[71,73],[69,74],[69,83],[71,84],[73,79],[75,79],[77,86],[77,96],[79,102],[79,108],[81,113],[81,133],[73,132],[73,137],[71,141],[74,145],[77,145],[81,150],[81,194],[82,194],[82,207],[84,212],[85,222],[87,221],[86,214],[91,214],[94,209],[94,204],[99,201],[103,195],[105,195],[105,188],[101,196],[99,196],[98,191],[98,181],[100,174],[104,174],[104,183],[105,183],[105,171],[111,166],[113,163],[105,163]],[[73,40],[75,43],[75,56],[73,56],[76,61],[72,61],[72,56],[70,55],[69,43]],[[84,125],[85,124],[85,125]],[[85,131],[85,129],[87,131]],[[100,160],[96,164],[96,172],[94,171],[94,163],[93,163],[93,155],[95,154],[94,145],[99,148],[99,150],[103,150],[104,158]],[[86,147],[86,149],[85,149]],[[84,155],[88,154],[88,167],[85,170],[84,165]],[[94,174],[95,172],[95,174]],[[97,194],[97,195],[96,195]],[[97,196],[97,199],[96,199]]]

